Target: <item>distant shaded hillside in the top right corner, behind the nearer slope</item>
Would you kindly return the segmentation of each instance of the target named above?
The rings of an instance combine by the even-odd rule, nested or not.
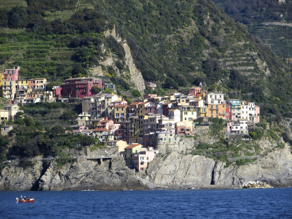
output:
[[[291,58],[291,1],[212,1],[235,21],[247,25],[249,32],[258,36],[279,57]]]

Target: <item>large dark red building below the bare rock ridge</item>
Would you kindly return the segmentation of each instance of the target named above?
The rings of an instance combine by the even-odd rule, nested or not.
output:
[[[93,86],[98,86],[102,89],[102,79],[93,77],[70,77],[65,80],[64,84],[61,84],[61,95],[77,98],[92,96],[91,88]]]

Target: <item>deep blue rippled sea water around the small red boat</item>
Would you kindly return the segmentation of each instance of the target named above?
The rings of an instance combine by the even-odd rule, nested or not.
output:
[[[292,188],[0,192],[0,218],[292,218]],[[16,203],[16,197],[35,197]]]

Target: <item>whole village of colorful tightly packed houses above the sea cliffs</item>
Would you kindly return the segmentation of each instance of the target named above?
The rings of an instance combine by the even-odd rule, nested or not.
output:
[[[76,117],[77,125],[71,126],[73,133],[98,138],[106,145],[117,145],[126,165],[137,171],[144,170],[154,156],[167,147],[185,152],[181,137],[192,135],[194,120],[199,117],[229,120],[228,134],[248,134],[248,128],[260,121],[260,107],[254,102],[225,100],[224,93],[206,92],[202,84],[190,88],[188,94],[168,93],[163,97],[147,94],[128,103],[113,93],[93,95],[93,86],[111,88],[114,92],[114,84],[100,78],[70,77],[53,87],[53,91],[46,91],[46,79],[20,80],[18,71],[19,67],[15,67],[2,73],[0,83],[10,104],[0,109],[1,122],[13,120],[19,111],[18,103],[81,98],[82,113]],[[156,88],[156,84],[149,85]]]

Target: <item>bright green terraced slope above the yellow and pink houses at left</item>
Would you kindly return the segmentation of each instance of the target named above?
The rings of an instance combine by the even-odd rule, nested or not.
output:
[[[31,38],[19,29],[10,34],[6,44],[0,46],[0,52],[22,67],[22,77],[51,78],[56,66],[72,70],[74,49],[67,47],[72,38],[58,35]]]

